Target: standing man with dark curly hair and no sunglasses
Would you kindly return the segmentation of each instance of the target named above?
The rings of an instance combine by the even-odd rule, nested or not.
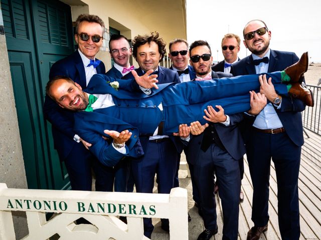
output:
[[[157,74],[158,83],[180,82],[177,72],[159,66],[166,53],[166,43],[158,32],[137,35],[132,41],[132,54],[138,62],[135,69],[139,76],[152,69]],[[125,79],[134,78],[131,73]],[[145,155],[140,161],[132,161],[132,171],[137,192],[152,192],[155,173],[157,173],[158,193],[170,193],[174,186],[178,155],[183,143],[177,136],[157,134],[149,137]],[[168,219],[162,219],[162,228],[169,231]],[[144,219],[144,234],[151,236],[151,218]]]

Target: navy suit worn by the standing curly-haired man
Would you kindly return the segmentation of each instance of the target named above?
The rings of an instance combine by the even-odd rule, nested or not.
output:
[[[141,68],[136,69],[142,75]],[[173,70],[158,66],[158,84],[180,82],[179,75]],[[123,77],[132,78],[131,72]],[[140,162],[132,162],[135,186],[138,192],[152,192],[155,173],[157,173],[158,193],[170,193],[174,187],[174,178],[177,168],[177,158],[183,150],[183,143],[177,136],[162,138],[160,142],[149,140],[145,155]],[[168,225],[168,220],[162,219],[162,224]],[[145,235],[150,237],[153,229],[151,218],[144,219]]]

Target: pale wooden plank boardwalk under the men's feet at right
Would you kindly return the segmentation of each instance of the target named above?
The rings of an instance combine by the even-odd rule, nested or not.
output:
[[[321,239],[321,136],[306,130],[309,135],[304,135],[305,143],[302,147],[301,165],[299,173],[299,207],[300,207],[300,239]],[[251,206],[253,187],[249,173],[248,163],[245,159],[244,178],[242,180],[242,190],[244,201],[240,203],[239,213],[239,239],[245,240],[247,231],[253,226],[251,221]],[[204,230],[203,220],[198,215],[198,208],[194,206],[192,199],[192,184],[187,171],[180,170],[180,186],[188,189],[189,192],[189,213],[192,221],[189,223],[189,239],[196,240],[198,235]],[[156,189],[155,189],[156,191]],[[219,232],[211,239],[222,239],[222,208],[219,196],[216,195],[218,202],[217,216]],[[273,163],[271,164],[270,175],[270,196],[269,196],[269,226],[268,230],[260,239],[281,239],[278,218],[277,218],[277,186]],[[169,239],[169,234],[161,228],[159,220],[153,221],[155,229],[152,239]]]

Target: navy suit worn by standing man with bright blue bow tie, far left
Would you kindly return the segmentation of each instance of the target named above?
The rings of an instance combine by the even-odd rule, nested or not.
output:
[[[96,70],[104,73],[104,63],[101,62]],[[57,75],[68,76],[82,88],[86,88],[85,68],[78,50],[53,64],[49,78]],[[96,190],[109,190],[110,187],[112,189],[113,182],[106,178],[111,169],[102,165],[81,142],[73,140],[77,133],[73,130],[74,113],[61,108],[46,95],[44,114],[52,123],[54,147],[60,160],[65,161],[72,189],[91,190],[91,167],[96,173]]]

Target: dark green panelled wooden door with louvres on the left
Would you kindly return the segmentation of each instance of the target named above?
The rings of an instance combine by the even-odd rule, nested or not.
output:
[[[43,103],[51,65],[73,52],[70,6],[58,0],[1,0],[1,7],[28,187],[68,189]]]

